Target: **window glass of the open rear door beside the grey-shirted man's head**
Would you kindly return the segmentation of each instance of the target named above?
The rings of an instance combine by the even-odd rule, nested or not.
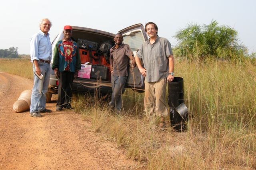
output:
[[[124,36],[124,44],[130,45],[132,51],[137,51],[144,43],[142,33],[136,32],[134,36]]]

